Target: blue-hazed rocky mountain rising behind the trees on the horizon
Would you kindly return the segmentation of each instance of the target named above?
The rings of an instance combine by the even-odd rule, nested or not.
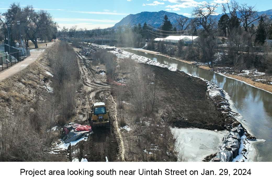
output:
[[[272,18],[272,9],[267,11],[260,11],[257,12],[258,16],[262,14],[266,14]],[[130,25],[133,26],[134,24],[138,25],[138,23],[141,23],[143,26],[144,22],[146,22],[148,25],[151,25],[155,28],[158,28],[162,25],[163,17],[164,15],[168,16],[168,19],[171,21],[173,25],[177,23],[177,19],[182,17],[185,18],[185,16],[177,14],[177,13],[170,13],[167,11],[159,11],[159,12],[148,12],[144,11],[137,14],[129,14],[125,18],[123,18],[120,22],[116,23],[113,28],[118,28],[119,26],[123,25]],[[220,19],[220,17],[223,14],[213,15],[212,17],[215,18],[217,21]],[[254,22],[255,23],[255,22]],[[255,24],[257,24],[256,22]]]

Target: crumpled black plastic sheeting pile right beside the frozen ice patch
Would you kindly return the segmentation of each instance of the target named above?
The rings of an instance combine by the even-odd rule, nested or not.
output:
[[[219,152],[211,160],[212,162],[232,162],[239,154],[241,137],[245,134],[242,125],[232,128],[229,135],[225,136],[219,147]]]

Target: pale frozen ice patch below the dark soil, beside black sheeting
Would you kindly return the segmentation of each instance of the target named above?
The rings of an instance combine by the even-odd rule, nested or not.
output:
[[[172,128],[177,138],[178,153],[185,154],[188,162],[201,162],[206,156],[217,153],[218,146],[228,131],[209,131],[196,128]]]

